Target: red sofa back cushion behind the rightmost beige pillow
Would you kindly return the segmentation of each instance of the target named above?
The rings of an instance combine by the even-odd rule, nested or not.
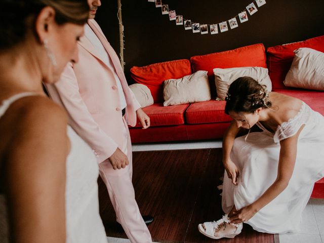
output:
[[[267,49],[267,65],[273,89],[287,89],[283,82],[292,65],[294,50],[301,47],[324,52],[324,35]]]

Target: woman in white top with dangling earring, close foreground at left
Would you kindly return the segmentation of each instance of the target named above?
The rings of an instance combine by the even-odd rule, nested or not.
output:
[[[58,80],[88,19],[86,0],[4,0],[0,10],[0,242],[107,242],[99,169],[42,82]]]

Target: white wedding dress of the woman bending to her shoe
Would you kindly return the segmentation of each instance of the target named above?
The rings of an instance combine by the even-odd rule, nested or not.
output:
[[[229,213],[233,205],[240,209],[253,203],[277,177],[279,141],[295,135],[302,125],[293,175],[287,188],[246,223],[268,233],[298,232],[302,212],[311,195],[314,182],[324,177],[324,117],[302,103],[298,114],[269,132],[251,133],[247,139],[234,141],[231,159],[239,170],[234,186],[225,171],[222,208]]]

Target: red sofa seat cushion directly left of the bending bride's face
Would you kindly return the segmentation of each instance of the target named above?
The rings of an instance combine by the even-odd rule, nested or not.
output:
[[[187,124],[222,123],[232,118],[225,114],[225,101],[209,100],[190,104],[185,113]]]

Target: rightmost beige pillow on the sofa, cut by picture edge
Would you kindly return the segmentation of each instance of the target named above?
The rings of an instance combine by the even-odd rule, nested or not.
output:
[[[324,90],[324,53],[310,48],[299,48],[294,52],[295,57],[284,85]]]

